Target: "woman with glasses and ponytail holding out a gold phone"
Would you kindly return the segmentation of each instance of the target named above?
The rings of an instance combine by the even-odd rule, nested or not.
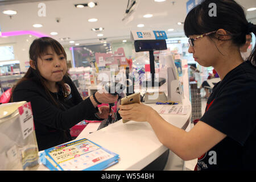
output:
[[[217,16],[209,16],[215,3]],[[120,106],[123,119],[147,121],[156,136],[181,159],[198,158],[197,170],[256,169],[256,52],[243,62],[240,46],[256,34],[240,5],[233,0],[205,0],[184,23],[189,53],[221,78],[210,95],[205,114],[189,132],[164,119],[150,106]]]

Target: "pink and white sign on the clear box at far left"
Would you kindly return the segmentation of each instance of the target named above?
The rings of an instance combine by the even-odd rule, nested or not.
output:
[[[34,121],[30,102],[18,107],[18,110],[23,139],[26,139],[34,130]]]

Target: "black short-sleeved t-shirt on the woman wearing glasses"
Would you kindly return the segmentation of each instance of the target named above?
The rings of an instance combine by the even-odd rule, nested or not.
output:
[[[227,136],[198,159],[195,169],[256,169],[256,68],[249,61],[214,86],[200,121]]]

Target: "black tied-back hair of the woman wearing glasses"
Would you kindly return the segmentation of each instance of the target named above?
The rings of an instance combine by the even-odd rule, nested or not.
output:
[[[217,16],[209,16],[209,5],[215,3]],[[189,11],[184,22],[185,35],[201,35],[218,29],[224,29],[232,36],[232,42],[237,47],[246,42],[246,34],[256,35],[256,26],[246,19],[243,8],[234,0],[203,0]],[[214,38],[214,34],[209,35]],[[256,47],[256,45],[255,45]],[[256,50],[251,53],[249,60],[256,66]]]

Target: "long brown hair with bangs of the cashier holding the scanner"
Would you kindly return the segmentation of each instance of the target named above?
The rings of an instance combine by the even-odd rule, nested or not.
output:
[[[38,82],[40,85],[43,86],[44,90],[46,90],[46,94],[50,98],[52,103],[59,106],[57,104],[57,102],[55,101],[55,99],[52,97],[51,93],[49,92],[49,89],[47,88],[47,86],[45,84],[46,78],[42,77],[38,70],[38,58],[39,57],[41,58],[42,55],[45,55],[47,53],[48,47],[51,47],[52,50],[55,51],[57,55],[63,54],[65,59],[67,60],[67,54],[65,53],[63,46],[61,46],[61,44],[59,42],[57,42],[57,40],[49,38],[49,37],[42,37],[39,39],[35,39],[30,46],[29,54],[30,54],[30,60],[34,61],[34,65],[35,65],[36,69],[31,68],[31,67],[28,68],[25,75],[17,82],[16,85],[20,84],[21,82],[23,82],[25,80],[33,80],[35,82]],[[67,75],[67,73],[66,73],[66,75]],[[64,86],[63,79],[61,81],[57,82],[57,84],[61,86],[64,93],[67,93],[67,89]],[[14,91],[16,85],[12,89],[13,91]],[[13,97],[11,98],[11,102],[13,102]]]

